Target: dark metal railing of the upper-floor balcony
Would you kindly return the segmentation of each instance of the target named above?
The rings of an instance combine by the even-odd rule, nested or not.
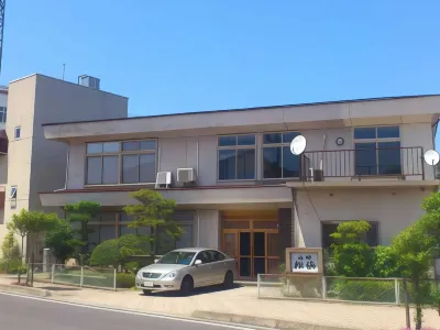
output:
[[[421,146],[310,151],[300,156],[301,180],[410,176],[425,179]]]

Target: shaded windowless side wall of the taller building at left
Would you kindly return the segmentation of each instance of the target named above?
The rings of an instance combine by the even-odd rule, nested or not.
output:
[[[37,76],[31,177],[32,207],[37,193],[65,185],[67,146],[45,140],[42,124],[51,121],[97,120],[128,116],[128,99],[58,79]],[[43,170],[44,168],[44,170]]]

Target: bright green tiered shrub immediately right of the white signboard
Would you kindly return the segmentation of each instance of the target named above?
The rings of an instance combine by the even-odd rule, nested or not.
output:
[[[334,268],[340,275],[363,277],[371,273],[372,252],[363,241],[371,224],[362,221],[346,221],[338,226],[332,233],[336,243],[332,244]]]

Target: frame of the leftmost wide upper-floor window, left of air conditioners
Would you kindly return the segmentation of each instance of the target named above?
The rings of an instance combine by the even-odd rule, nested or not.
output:
[[[123,151],[122,146],[123,143],[125,142],[145,142],[145,141],[154,141],[155,143],[155,148],[154,150],[134,150],[134,151]],[[89,144],[98,144],[101,143],[102,145],[105,143],[118,143],[118,151],[114,152],[100,152],[100,153],[88,153],[87,147]],[[94,186],[135,186],[135,185],[153,185],[156,183],[156,176],[157,176],[157,157],[158,157],[158,140],[157,139],[133,139],[133,140],[118,140],[118,141],[97,141],[97,142],[86,142],[86,151],[85,151],[85,176],[84,176],[84,186],[85,187],[94,187]],[[154,154],[154,182],[141,182],[140,180],[140,175],[139,175],[139,183],[132,183],[132,184],[124,184],[123,183],[123,156],[125,155],[136,155],[138,156],[138,162],[140,162],[140,156],[141,155],[146,155],[146,154]],[[118,182],[116,184],[103,184],[102,178],[103,178],[103,158],[106,156],[118,156]],[[87,183],[87,176],[88,176],[88,160],[90,157],[100,157],[101,160],[101,178],[100,178],[100,184],[88,184]],[[139,168],[141,168],[139,166]]]

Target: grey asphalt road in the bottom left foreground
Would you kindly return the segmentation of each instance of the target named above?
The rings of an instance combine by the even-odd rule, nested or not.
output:
[[[147,299],[147,297],[145,297]],[[227,330],[251,329],[209,322],[154,317],[133,312],[82,307],[72,304],[0,293],[1,330]]]

